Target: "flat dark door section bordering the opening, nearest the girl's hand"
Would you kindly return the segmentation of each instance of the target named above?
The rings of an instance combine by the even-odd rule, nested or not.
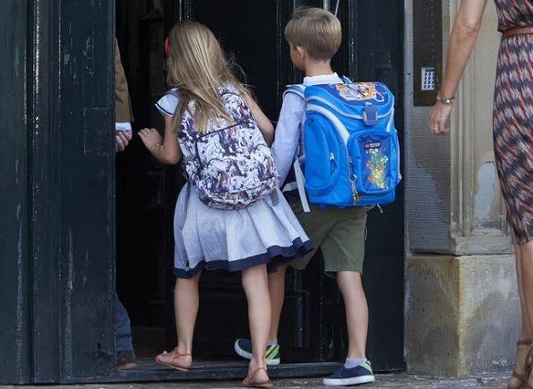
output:
[[[61,368],[115,368],[114,2],[59,2]]]

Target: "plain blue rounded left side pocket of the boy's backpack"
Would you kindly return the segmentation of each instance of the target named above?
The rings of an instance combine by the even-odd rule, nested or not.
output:
[[[333,131],[327,119],[319,115],[307,118],[305,122],[305,190],[310,195],[327,195],[339,180],[341,167],[346,164],[346,151],[339,147],[341,141],[339,134]]]

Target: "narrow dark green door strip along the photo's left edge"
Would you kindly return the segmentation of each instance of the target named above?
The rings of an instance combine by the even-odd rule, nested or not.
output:
[[[0,385],[22,384],[30,379],[26,112],[29,15],[27,1],[0,2],[0,25],[4,34],[0,49],[5,58],[10,58],[0,62],[0,350],[4,351],[0,355]]]

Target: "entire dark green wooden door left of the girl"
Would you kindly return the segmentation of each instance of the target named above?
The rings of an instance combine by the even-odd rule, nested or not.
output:
[[[0,384],[114,368],[114,12],[0,5]]]

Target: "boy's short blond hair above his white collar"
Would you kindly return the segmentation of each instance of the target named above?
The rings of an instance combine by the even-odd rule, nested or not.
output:
[[[293,47],[304,47],[314,60],[330,60],[340,47],[340,21],[322,8],[300,8],[288,21],[285,38]]]

